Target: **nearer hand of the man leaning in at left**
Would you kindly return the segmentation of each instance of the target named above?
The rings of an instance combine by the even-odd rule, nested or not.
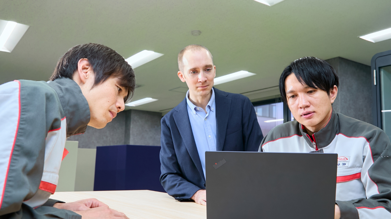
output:
[[[84,211],[75,211],[81,215],[81,219],[129,219],[124,213],[113,210],[107,206],[89,208]]]

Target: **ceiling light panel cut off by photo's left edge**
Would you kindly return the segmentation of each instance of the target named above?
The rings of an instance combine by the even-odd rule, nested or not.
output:
[[[0,51],[12,52],[28,28],[28,25],[0,20]]]

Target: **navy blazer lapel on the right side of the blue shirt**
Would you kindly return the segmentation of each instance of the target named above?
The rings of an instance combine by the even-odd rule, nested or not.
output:
[[[225,134],[227,132],[228,118],[231,110],[231,99],[226,92],[214,88],[216,102],[216,150],[222,151]]]

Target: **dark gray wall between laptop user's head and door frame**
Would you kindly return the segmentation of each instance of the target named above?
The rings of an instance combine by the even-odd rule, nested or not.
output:
[[[339,77],[334,110],[372,124],[371,66],[341,57],[326,62],[334,67]]]

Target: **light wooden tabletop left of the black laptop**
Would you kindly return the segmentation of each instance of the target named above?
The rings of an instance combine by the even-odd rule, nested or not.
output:
[[[167,193],[149,190],[57,192],[50,198],[65,202],[96,198],[110,208],[125,213],[130,219],[206,219],[206,206],[179,202]]]

